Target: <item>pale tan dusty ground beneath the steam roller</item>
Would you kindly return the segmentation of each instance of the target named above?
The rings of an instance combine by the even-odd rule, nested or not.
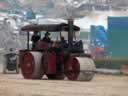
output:
[[[128,96],[128,77],[96,75],[91,82],[73,82],[0,74],[0,96]]]

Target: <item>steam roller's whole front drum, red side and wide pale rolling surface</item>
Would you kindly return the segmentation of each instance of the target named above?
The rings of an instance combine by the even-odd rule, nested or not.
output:
[[[69,80],[91,81],[94,77],[95,64],[88,57],[70,57],[65,67]]]

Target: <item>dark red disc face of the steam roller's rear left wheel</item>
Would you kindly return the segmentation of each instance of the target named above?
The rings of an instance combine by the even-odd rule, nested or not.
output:
[[[32,79],[34,73],[35,62],[31,53],[26,53],[23,57],[23,64],[21,70],[24,78]]]

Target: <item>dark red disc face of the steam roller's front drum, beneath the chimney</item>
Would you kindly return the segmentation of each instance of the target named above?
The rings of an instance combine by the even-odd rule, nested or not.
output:
[[[68,62],[67,74],[69,80],[77,80],[80,73],[80,65],[75,58],[71,58]]]

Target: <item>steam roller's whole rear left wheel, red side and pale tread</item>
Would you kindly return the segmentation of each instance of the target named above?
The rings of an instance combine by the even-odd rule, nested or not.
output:
[[[44,72],[41,64],[42,53],[28,51],[22,57],[21,71],[25,79],[41,79]]]

